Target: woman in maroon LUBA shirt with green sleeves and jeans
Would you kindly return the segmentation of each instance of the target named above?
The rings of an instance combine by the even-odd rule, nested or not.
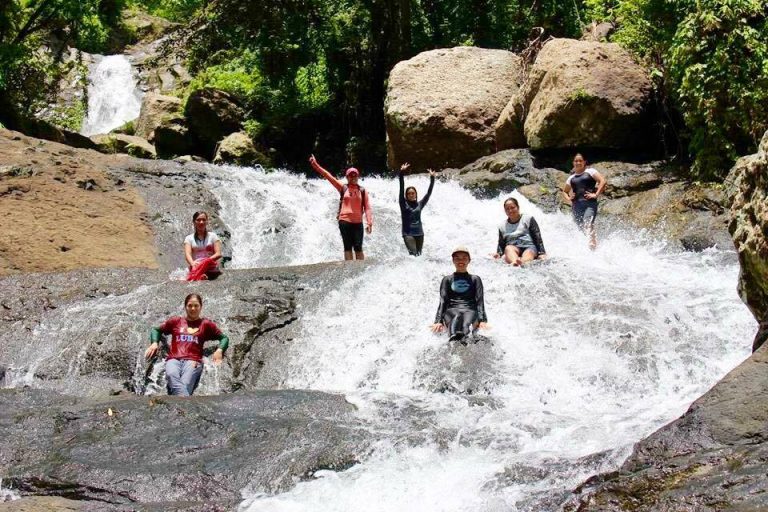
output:
[[[152,344],[144,357],[151,359],[157,355],[161,334],[170,334],[171,348],[165,359],[165,376],[168,381],[168,394],[191,396],[200,383],[203,374],[203,345],[206,341],[218,340],[219,347],[213,353],[213,362],[220,364],[224,352],[229,346],[229,338],[207,318],[201,318],[203,298],[190,293],[184,299],[186,316],[169,318],[159,327],[153,327],[150,334]]]

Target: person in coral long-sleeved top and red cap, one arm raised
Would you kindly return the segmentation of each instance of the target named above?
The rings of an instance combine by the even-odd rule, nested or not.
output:
[[[333,175],[323,169],[315,155],[309,157],[312,169],[328,180],[339,191],[339,211],[336,219],[339,221],[339,232],[344,243],[344,259],[365,259],[363,254],[363,212],[365,212],[365,231],[370,235],[373,231],[373,211],[368,201],[368,193],[357,182],[360,171],[354,167],[347,169],[345,176],[347,183],[342,184]],[[354,258],[352,250],[355,251]]]

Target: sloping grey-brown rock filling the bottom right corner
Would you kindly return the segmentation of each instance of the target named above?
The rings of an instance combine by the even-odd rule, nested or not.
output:
[[[615,473],[575,491],[569,512],[766,510],[768,349],[635,446]]]

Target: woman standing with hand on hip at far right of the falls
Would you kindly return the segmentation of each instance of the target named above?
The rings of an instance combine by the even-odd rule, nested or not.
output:
[[[605,190],[603,175],[592,167],[581,153],[573,157],[573,174],[568,177],[563,187],[566,201],[571,203],[573,220],[579,229],[589,234],[589,248],[597,247],[595,236],[595,218],[597,217],[597,198]]]

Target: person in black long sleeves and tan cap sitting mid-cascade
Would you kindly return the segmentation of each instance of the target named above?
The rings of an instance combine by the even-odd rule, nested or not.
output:
[[[469,250],[459,246],[451,254],[456,271],[440,283],[440,305],[437,307],[432,332],[448,328],[451,341],[461,341],[473,329],[485,329],[483,281],[467,272],[471,260]]]

